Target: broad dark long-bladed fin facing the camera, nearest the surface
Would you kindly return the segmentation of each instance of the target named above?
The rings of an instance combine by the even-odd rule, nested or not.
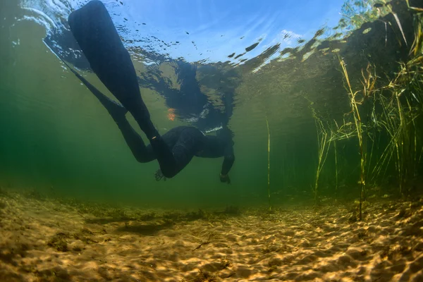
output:
[[[135,68],[116,27],[101,1],[90,1],[68,17],[71,31],[92,71],[128,109],[149,140],[157,136],[142,101]]]

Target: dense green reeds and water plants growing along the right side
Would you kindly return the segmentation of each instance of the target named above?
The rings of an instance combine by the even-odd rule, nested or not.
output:
[[[369,187],[381,185],[388,175],[395,176],[398,194],[407,197],[418,192],[421,185],[419,171],[423,155],[423,16],[421,8],[409,6],[413,12],[415,39],[406,61],[398,63],[398,71],[388,75],[378,66],[368,63],[360,78],[351,78],[348,65],[338,55],[339,71],[343,74],[350,111],[341,121],[322,115],[310,102],[317,130],[318,162],[312,191],[318,203],[319,177],[333,147],[336,191],[338,190],[337,146],[355,140],[360,156],[360,202],[357,217],[362,219],[363,203]],[[403,27],[397,21],[402,35],[400,44],[407,45]],[[354,81],[354,82],[353,82]]]

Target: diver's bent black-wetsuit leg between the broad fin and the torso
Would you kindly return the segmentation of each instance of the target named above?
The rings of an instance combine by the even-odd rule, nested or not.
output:
[[[153,140],[154,141],[154,140]],[[172,148],[172,156],[164,156],[160,147],[151,142],[154,153],[159,161],[161,173],[167,178],[176,176],[190,163],[195,153],[203,149],[206,137],[197,128],[187,127],[181,131],[178,141]]]

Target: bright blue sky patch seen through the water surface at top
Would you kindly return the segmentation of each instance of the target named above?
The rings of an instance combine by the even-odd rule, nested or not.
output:
[[[181,56],[186,61],[212,62],[226,61],[233,53],[243,54],[246,47],[260,39],[257,48],[239,59],[251,59],[276,43],[281,43],[283,49],[294,47],[298,39],[307,41],[319,28],[338,24],[343,1],[129,0],[122,3],[104,1],[107,8],[117,11],[114,20],[125,26],[130,37],[157,37],[170,44],[166,47],[163,42],[157,42],[161,53],[168,53],[174,59]],[[285,37],[287,33],[291,37]]]

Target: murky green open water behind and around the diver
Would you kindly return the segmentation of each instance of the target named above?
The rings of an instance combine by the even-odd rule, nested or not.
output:
[[[152,207],[266,206],[267,116],[271,132],[271,203],[313,200],[317,133],[304,96],[321,113],[330,113],[338,121],[350,111],[336,52],[317,51],[305,61],[301,56],[271,61],[254,73],[254,60],[235,68],[242,82],[236,90],[240,103],[230,122],[236,157],[230,172],[232,184],[219,181],[221,158],[194,158],[175,178],[157,182],[157,161],[137,163],[101,104],[44,45],[44,28],[30,21],[16,23],[10,15],[21,12],[11,2],[2,1],[0,12],[0,185],[35,188],[60,197]],[[333,45],[332,50],[341,50],[353,85],[360,85],[361,69],[368,62],[391,79],[398,71],[398,61],[407,60],[414,38],[412,13],[405,1],[396,8],[407,46],[401,42],[392,16],[388,20],[393,28],[388,32],[376,21],[353,32],[344,43],[326,42]],[[367,27],[372,27],[372,32],[363,34]],[[19,44],[13,45],[18,39]],[[305,54],[307,48],[297,54]],[[94,75],[87,78],[104,90]],[[164,100],[154,92],[142,89],[142,97],[160,128],[182,124],[168,121]],[[130,122],[135,125],[133,118]],[[357,199],[357,140],[339,142],[337,146],[338,166],[332,148],[321,173],[319,195],[333,197],[337,192]],[[387,171],[377,181],[382,189],[380,195],[398,191],[395,176],[389,177],[395,171],[394,164]],[[420,176],[421,163],[417,171]]]

